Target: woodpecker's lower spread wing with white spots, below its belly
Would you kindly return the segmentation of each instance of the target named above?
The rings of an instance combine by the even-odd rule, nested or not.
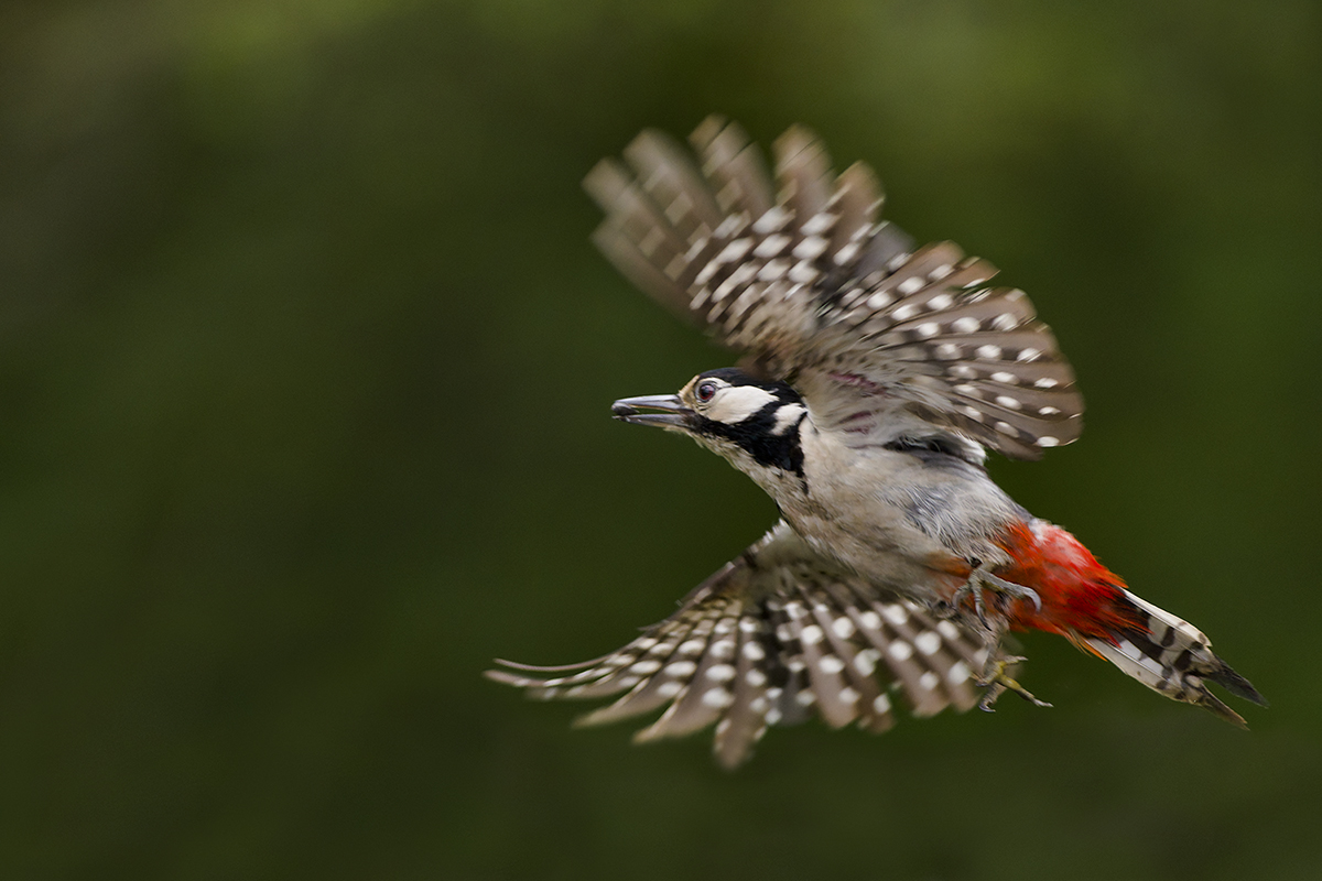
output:
[[[784,523],[707,579],[665,621],[608,655],[567,667],[498,662],[486,675],[541,699],[608,697],[600,724],[665,708],[639,741],[715,724],[714,752],[743,762],[768,725],[813,713],[884,732],[892,695],[915,716],[977,703],[986,649],[951,621],[830,567]]]

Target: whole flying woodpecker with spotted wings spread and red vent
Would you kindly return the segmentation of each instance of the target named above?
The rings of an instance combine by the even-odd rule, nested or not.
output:
[[[1081,431],[1073,371],[1023,292],[951,242],[915,247],[879,219],[855,164],[832,170],[791,128],[775,182],[720,118],[653,131],[584,181],[594,239],[662,305],[746,353],[616,419],[686,435],[775,499],[780,520],[672,617],[580,664],[500,660],[488,676],[543,699],[619,696],[584,724],[656,712],[648,741],[715,725],[718,761],[812,715],[883,732],[992,703],[1010,630],[1044,630],[1174,700],[1236,725],[1208,689],[1265,705],[1187,621],[1129,592],[1069,532],[989,477],[986,450],[1038,458]]]

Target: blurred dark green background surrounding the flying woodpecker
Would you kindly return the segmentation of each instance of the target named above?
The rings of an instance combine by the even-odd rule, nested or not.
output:
[[[1064,641],[994,716],[633,748],[480,678],[665,617],[771,523],[613,423],[728,359],[579,180],[817,129],[1034,297],[1080,444],[995,461],[1273,701]],[[1318,878],[1317,3],[11,0],[0,876]]]

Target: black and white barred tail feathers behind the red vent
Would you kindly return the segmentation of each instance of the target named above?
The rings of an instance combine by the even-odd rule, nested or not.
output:
[[[1266,707],[1266,699],[1252,683],[1212,651],[1212,643],[1202,630],[1129,590],[1122,593],[1137,612],[1141,626],[1116,633],[1114,643],[1084,639],[1089,649],[1153,691],[1171,700],[1204,707],[1240,728],[1247,728],[1244,719],[1208,691],[1207,683],[1216,683],[1232,695]]]

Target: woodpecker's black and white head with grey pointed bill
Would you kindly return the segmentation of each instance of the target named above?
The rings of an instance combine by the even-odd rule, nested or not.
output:
[[[625,398],[611,411],[627,423],[689,435],[755,479],[769,473],[802,478],[798,429],[808,408],[787,383],[722,367],[698,374],[678,395]]]

